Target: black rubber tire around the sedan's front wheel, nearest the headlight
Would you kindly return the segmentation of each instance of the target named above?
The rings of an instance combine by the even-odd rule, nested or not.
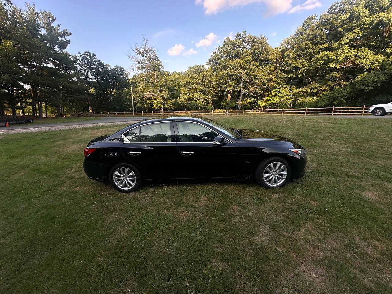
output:
[[[280,163],[285,166],[283,168],[283,171],[284,171],[284,169],[286,170],[286,177],[283,181],[281,181],[279,183],[281,178],[278,178],[278,177],[284,176],[284,174],[282,173],[282,171],[279,173],[275,173],[275,176],[273,176],[273,177],[276,179],[276,182],[274,182],[274,183],[276,183],[276,185],[271,185],[270,181],[272,181],[272,180],[266,181],[269,178],[265,179],[263,175],[264,175],[264,171],[265,171],[266,167],[268,167],[270,164],[273,164],[273,166],[277,167],[278,165],[276,163]],[[279,165],[277,170],[279,171],[279,169],[281,167],[282,166]],[[284,185],[286,185],[286,183],[290,180],[290,177],[291,177],[291,167],[290,167],[289,162],[287,162],[287,160],[285,160],[282,157],[274,156],[274,157],[266,158],[265,160],[263,160],[259,164],[259,166],[256,169],[254,178],[256,180],[256,183],[258,183],[259,185],[261,185],[265,188],[280,188],[280,187],[283,187]]]

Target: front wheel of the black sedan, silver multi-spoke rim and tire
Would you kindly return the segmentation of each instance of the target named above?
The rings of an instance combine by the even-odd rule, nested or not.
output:
[[[290,164],[281,157],[263,160],[256,169],[256,182],[265,188],[280,188],[290,180]]]

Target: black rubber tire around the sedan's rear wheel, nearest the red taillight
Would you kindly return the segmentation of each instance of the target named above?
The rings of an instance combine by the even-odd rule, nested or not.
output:
[[[115,183],[115,179],[113,178],[113,174],[114,172],[118,173],[118,170],[122,171],[120,172],[120,174],[124,174],[125,176],[128,174],[127,170],[129,170],[129,174],[133,173],[134,174],[134,179],[132,174],[126,178],[121,180],[121,177],[118,176],[119,181],[117,183]],[[130,187],[131,185],[129,185],[129,183],[132,183],[132,180],[135,180],[134,182],[134,186]],[[136,169],[136,167],[134,167],[133,165],[130,165],[128,163],[119,163],[114,165],[114,167],[112,167],[112,169],[109,172],[109,181],[111,183],[111,185],[113,186],[114,189],[116,189],[119,192],[123,192],[123,193],[130,193],[130,192],[134,192],[137,189],[139,189],[140,185],[142,185],[142,176],[140,175],[140,172],[138,171],[138,169]],[[124,183],[123,188],[118,187],[118,184],[122,184]]]

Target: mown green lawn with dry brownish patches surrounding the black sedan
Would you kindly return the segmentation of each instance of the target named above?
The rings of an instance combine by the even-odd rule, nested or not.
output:
[[[120,125],[0,136],[0,292],[392,292],[392,120],[214,119],[293,138],[307,174],[122,194],[82,168]]]

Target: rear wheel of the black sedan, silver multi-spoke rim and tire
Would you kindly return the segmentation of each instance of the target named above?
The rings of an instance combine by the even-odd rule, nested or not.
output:
[[[142,184],[140,172],[127,163],[114,165],[109,172],[109,180],[114,189],[125,193],[136,191]]]

